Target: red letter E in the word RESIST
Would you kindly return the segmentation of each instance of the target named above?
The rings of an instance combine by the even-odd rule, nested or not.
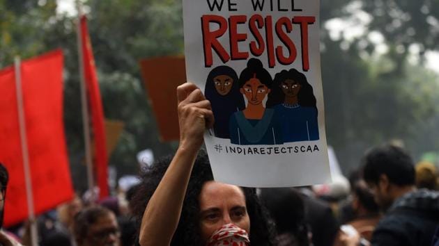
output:
[[[247,16],[233,15],[229,18],[230,49],[232,60],[246,60],[248,52],[240,52],[238,42],[247,40],[247,33],[238,33],[238,24],[245,24]]]

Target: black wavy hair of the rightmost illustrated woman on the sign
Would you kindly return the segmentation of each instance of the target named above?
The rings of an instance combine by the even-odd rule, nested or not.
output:
[[[316,97],[312,86],[308,83],[305,74],[302,74],[297,69],[282,70],[275,75],[271,92],[268,95],[267,107],[283,104],[285,94],[282,91],[282,82],[291,79],[300,84],[300,91],[298,93],[298,104],[302,107],[316,107]]]

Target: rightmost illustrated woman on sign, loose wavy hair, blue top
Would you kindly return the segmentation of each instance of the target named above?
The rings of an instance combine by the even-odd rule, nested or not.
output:
[[[284,142],[319,139],[316,97],[305,74],[296,69],[277,73],[267,107],[282,122]]]

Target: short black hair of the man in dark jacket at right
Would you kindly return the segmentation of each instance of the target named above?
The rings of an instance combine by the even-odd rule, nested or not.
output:
[[[363,178],[376,183],[385,174],[390,183],[397,186],[415,184],[415,167],[410,155],[401,147],[383,145],[367,151],[362,158]]]

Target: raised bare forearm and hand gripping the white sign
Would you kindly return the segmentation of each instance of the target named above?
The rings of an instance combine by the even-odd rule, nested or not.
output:
[[[139,243],[169,245],[180,220],[183,199],[203,133],[213,125],[209,101],[192,83],[177,88],[180,145],[167,171],[146,206]]]

